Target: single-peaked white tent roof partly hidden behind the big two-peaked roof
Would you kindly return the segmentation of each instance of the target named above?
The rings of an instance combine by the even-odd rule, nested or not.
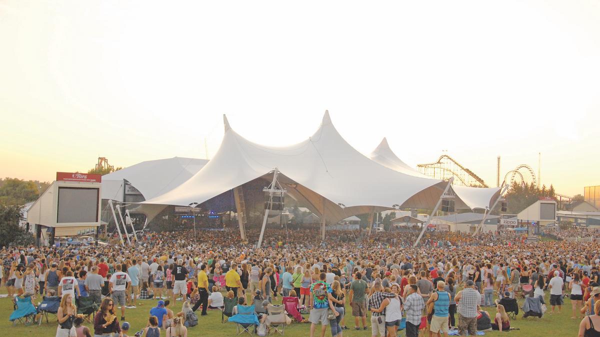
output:
[[[388,140],[383,138],[379,146],[371,152],[369,156],[371,160],[382,164],[389,169],[410,174],[416,177],[424,177],[431,179],[425,174],[413,169],[404,163],[397,155],[394,154],[391,148],[389,148]],[[460,200],[455,200],[455,207],[458,209],[469,208],[469,209],[485,209],[485,207],[493,206],[493,202],[500,194],[499,187],[493,188],[479,188],[479,187],[468,187],[460,185],[452,185],[452,189]]]

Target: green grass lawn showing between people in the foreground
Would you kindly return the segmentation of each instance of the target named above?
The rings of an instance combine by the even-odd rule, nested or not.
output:
[[[548,295],[549,297],[549,295]],[[37,303],[37,300],[35,300]],[[126,318],[127,321],[131,324],[131,330],[129,332],[130,336],[137,331],[145,327],[148,322],[148,312],[155,305],[155,300],[139,300],[139,303],[142,305],[138,305],[136,309],[127,309]],[[281,303],[281,297],[277,297],[277,301],[275,303]],[[546,299],[546,303],[548,303],[548,298]],[[175,312],[181,311],[182,302],[177,302],[175,306],[171,306],[171,309]],[[509,333],[510,335],[515,336],[575,336],[578,331],[578,324],[580,320],[572,320],[571,317],[571,302],[569,299],[565,299],[565,304],[563,306],[563,311],[560,314],[545,314],[543,318],[521,318],[522,314],[519,314],[517,320],[511,321],[512,327],[518,327],[520,330],[513,330],[511,332],[487,332],[488,336],[499,336]],[[353,318],[350,316],[349,306],[346,306],[346,326],[350,328],[350,330],[344,330],[344,336],[370,336],[371,330],[353,330],[354,326]],[[58,324],[56,323],[42,323],[41,326],[16,326],[13,327],[12,323],[8,321],[8,317],[13,311],[13,305],[11,300],[8,298],[0,299],[0,317],[4,317],[0,322],[0,329],[4,330],[7,335],[6,336],[23,336],[23,337],[31,337],[31,336],[54,336],[56,333],[56,327]],[[496,308],[488,308],[488,312],[490,312],[491,317],[494,317],[496,314]],[[550,312],[550,307],[548,306],[548,312]],[[308,318],[308,315],[304,315],[305,318]],[[367,323],[368,317],[367,317]],[[89,324],[88,324],[89,326]],[[318,328],[318,327],[317,327]],[[91,327],[93,333],[93,327]],[[233,323],[224,323],[221,324],[221,313],[220,311],[209,311],[208,316],[200,316],[199,324],[196,327],[191,327],[188,329],[188,336],[235,336],[235,324]],[[310,323],[292,323],[285,329],[285,335],[294,337],[294,336],[308,336],[310,329]],[[317,330],[318,331],[318,330]],[[327,329],[325,334],[326,336],[331,336],[331,330]],[[164,331],[163,335],[164,336]],[[317,333],[317,336],[318,333]],[[398,333],[398,336],[404,336],[404,332],[401,331]]]

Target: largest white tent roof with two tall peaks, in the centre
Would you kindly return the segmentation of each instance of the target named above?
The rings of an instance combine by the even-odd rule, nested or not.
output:
[[[335,130],[328,112],[313,136],[281,148],[244,139],[230,128],[225,116],[224,124],[223,142],[202,170],[144,203],[202,203],[256,178],[271,180],[269,172],[277,167],[291,197],[310,204],[318,215],[325,213],[329,221],[338,221],[394,204],[433,208],[446,184],[390,170],[360,154]]]

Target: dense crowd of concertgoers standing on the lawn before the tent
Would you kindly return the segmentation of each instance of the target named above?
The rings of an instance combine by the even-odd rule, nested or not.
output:
[[[474,336],[511,329],[503,299],[521,290],[533,299],[550,293],[550,313],[563,309],[568,294],[572,318],[585,315],[580,336],[600,327],[595,242],[529,244],[511,231],[427,231],[413,247],[418,234],[416,228],[370,236],[331,230],[321,242],[318,228],[269,228],[263,248],[256,249],[238,230],[225,229],[198,230],[196,239],[193,231],[148,233],[132,246],[4,247],[2,285],[9,296],[31,303],[58,296],[56,336],[127,336],[130,330],[187,336],[224,302],[235,300],[235,316],[279,296],[298,298],[310,336],[324,336],[328,326],[338,337],[346,329],[390,337],[398,329],[408,337],[448,336],[456,329]],[[259,228],[247,235],[256,242]],[[77,315],[82,297],[98,303],[93,326]],[[140,310],[139,299],[155,304],[147,326],[131,329],[127,312]],[[486,308],[492,306],[497,313],[490,317]],[[259,312],[258,324],[266,317]]]

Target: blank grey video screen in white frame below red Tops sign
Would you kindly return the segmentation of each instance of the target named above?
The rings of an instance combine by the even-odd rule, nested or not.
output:
[[[97,222],[98,188],[58,188],[58,216],[56,222]]]

